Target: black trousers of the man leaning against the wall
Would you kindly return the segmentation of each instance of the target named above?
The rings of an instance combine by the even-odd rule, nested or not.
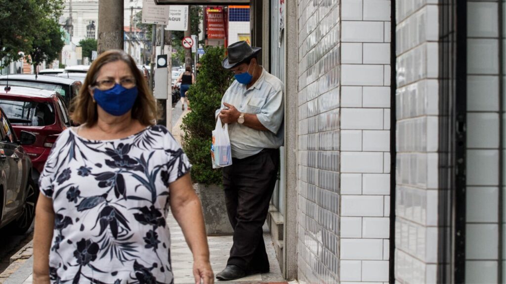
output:
[[[265,149],[223,168],[223,186],[234,244],[227,265],[253,272],[269,271],[262,226],[276,185],[279,149]]]

